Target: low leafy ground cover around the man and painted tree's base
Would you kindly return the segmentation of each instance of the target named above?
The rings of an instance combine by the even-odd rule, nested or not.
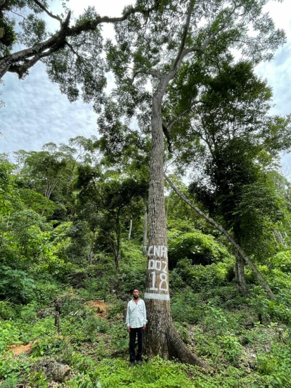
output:
[[[48,387],[49,378],[31,368],[42,357],[55,357],[71,367],[60,387],[291,387],[288,260],[284,272],[282,264],[265,271],[276,285],[277,302],[266,298],[251,273],[249,296],[239,296],[229,280],[229,256],[206,266],[180,260],[170,279],[172,316],[181,338],[209,370],[159,357],[132,370],[123,311],[132,279],[143,287],[146,261],[136,243],[123,248],[117,275],[109,258],[99,255],[91,265],[71,265],[66,283],[34,275],[27,304],[0,301],[1,387]],[[276,260],[282,261],[280,255]],[[80,273],[79,285],[73,287],[70,282]],[[56,299],[61,303],[59,332],[54,324]],[[89,307],[88,301],[100,299],[105,300],[106,316]],[[14,356],[11,346],[25,344],[30,344],[29,353]]]

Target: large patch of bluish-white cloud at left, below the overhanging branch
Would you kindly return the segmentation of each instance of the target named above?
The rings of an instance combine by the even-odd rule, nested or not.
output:
[[[4,83],[0,152],[38,150],[44,143],[66,143],[71,137],[97,134],[92,104],[70,103],[58,85],[49,81],[43,64],[35,65],[24,81],[7,73]]]

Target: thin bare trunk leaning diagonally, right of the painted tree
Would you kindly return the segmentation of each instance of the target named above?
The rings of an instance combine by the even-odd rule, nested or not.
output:
[[[166,181],[170,184],[172,189],[175,191],[176,194],[184,201],[186,202],[193,210],[196,211],[201,217],[203,217],[206,221],[208,221],[211,225],[215,226],[218,230],[223,233],[227,240],[231,242],[233,247],[238,251],[242,259],[249,265],[251,270],[254,272],[254,274],[257,276],[259,283],[263,287],[263,289],[266,291],[267,295],[271,300],[275,300],[275,295],[273,294],[272,290],[270,289],[269,284],[266,282],[266,280],[263,278],[261,273],[259,272],[258,268],[255,266],[255,264],[251,261],[251,259],[246,255],[246,253],[242,250],[240,245],[231,237],[231,235],[226,231],[224,227],[221,225],[217,224],[216,221],[214,221],[211,217],[209,217],[207,214],[203,213],[199,208],[197,208],[195,205],[193,205],[182,193],[180,193],[177,189],[177,187],[174,185],[174,183],[164,174],[164,177]]]

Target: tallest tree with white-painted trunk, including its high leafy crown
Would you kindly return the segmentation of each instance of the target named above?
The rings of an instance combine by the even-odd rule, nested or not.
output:
[[[162,1],[149,22],[127,21],[116,25],[117,45],[107,44],[108,60],[119,88],[115,98],[123,113],[131,116],[139,101],[148,99],[143,89],[152,76],[151,152],[149,183],[149,248],[145,299],[148,311],[146,350],[149,356],[178,356],[184,362],[204,365],[179,338],[170,314],[168,285],[167,234],[164,208],[164,138],[171,124],[162,122],[162,102],[170,82],[187,58],[192,64],[203,56],[221,61],[236,47],[259,61],[270,56],[284,40],[275,32],[274,23],[261,15],[265,1]],[[205,23],[201,25],[201,20]],[[258,32],[247,34],[249,24]],[[242,43],[244,42],[244,43]],[[122,64],[122,65],[121,65]],[[175,122],[175,120],[174,120]],[[172,123],[173,126],[173,123]],[[170,148],[170,144],[169,144]]]

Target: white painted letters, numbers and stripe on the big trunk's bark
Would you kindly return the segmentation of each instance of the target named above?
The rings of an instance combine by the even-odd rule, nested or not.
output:
[[[146,292],[145,298],[169,300],[167,247],[165,245],[150,245],[147,255],[149,257],[147,269],[151,276],[151,282],[148,289],[150,292]]]

